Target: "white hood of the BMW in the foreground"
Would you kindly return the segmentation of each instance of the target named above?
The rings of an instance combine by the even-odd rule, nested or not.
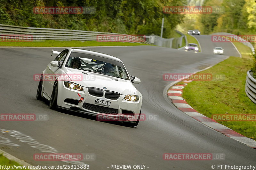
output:
[[[135,87],[130,80],[67,67],[63,71],[68,74],[72,82],[82,87],[95,87],[102,90],[115,91],[122,95],[133,95],[135,93]],[[107,89],[103,89],[103,87]]]

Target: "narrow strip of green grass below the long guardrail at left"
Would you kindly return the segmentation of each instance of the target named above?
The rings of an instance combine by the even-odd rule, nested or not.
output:
[[[35,47],[76,47],[76,46],[142,46],[148,44],[129,42],[98,42],[98,41],[30,41],[30,42],[0,42],[0,46],[35,46]]]

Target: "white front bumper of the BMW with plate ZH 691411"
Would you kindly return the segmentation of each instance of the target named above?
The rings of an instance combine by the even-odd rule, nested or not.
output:
[[[60,108],[94,115],[94,116],[99,117],[99,120],[101,120],[100,118],[103,117],[102,115],[105,115],[105,116],[107,115],[108,117],[103,117],[103,118],[111,117],[111,118],[119,120],[119,121],[134,122],[137,120],[136,118],[138,118],[138,115],[141,110],[141,105],[142,105],[142,97],[141,96],[140,96],[139,101],[137,101],[137,102],[125,100],[124,99],[125,95],[120,95],[120,97],[117,100],[111,100],[111,99],[105,98],[105,90],[104,90],[104,95],[102,97],[97,97],[97,96],[92,96],[91,94],[89,94],[88,88],[86,88],[86,87],[83,87],[83,91],[68,89],[64,86],[63,81],[59,81],[58,87],[59,88],[58,88],[58,103],[57,104]],[[132,94],[129,94],[129,95],[132,95]],[[71,99],[72,101],[79,101],[81,97],[84,97],[84,100],[82,102],[70,103],[70,102],[65,101],[65,99],[69,99],[69,100]],[[96,99],[110,102],[110,106],[96,104],[95,103]],[[102,107],[104,107],[104,108],[102,108]],[[97,111],[97,110],[102,110],[102,109],[104,111],[101,111],[101,112]],[[116,112],[113,113],[113,110]],[[102,112],[104,112],[104,113],[102,113]],[[104,120],[106,120],[106,119],[102,119],[102,121],[104,121]]]

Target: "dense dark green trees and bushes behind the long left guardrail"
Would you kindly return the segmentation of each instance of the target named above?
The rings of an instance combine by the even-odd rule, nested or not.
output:
[[[182,6],[185,0],[172,0],[172,6]],[[35,6],[93,6],[95,14],[34,14]],[[169,38],[182,14],[163,14],[162,0],[0,0],[0,24],[59,28],[126,34],[160,35],[164,17],[164,38]]]

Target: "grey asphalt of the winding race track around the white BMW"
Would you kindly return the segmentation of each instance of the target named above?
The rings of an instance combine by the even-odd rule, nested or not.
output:
[[[164,88],[172,82],[163,80],[164,73],[194,73],[227,58],[207,52],[216,44],[209,42],[208,37],[205,41],[201,38],[204,36],[198,38],[203,53],[158,46],[85,48],[120,58],[129,74],[140,78],[141,83],[135,87],[143,95],[141,113],[148,117],[156,115],[156,119],[140,121],[135,128],[125,127],[121,122],[96,121],[95,117],[72,111],[49,109],[47,102],[36,100],[38,82],[33,80],[33,74],[40,74],[53,60],[51,48],[0,48],[0,113],[49,116],[47,121],[1,121],[0,128],[5,129],[0,133],[1,149],[32,165],[44,166],[67,163],[33,160],[35,153],[42,153],[38,147],[31,147],[33,140],[60,153],[94,153],[96,160],[83,161],[93,170],[110,169],[113,164],[146,165],[148,170],[255,165],[254,149],[201,124],[163,96]],[[232,45],[226,43],[222,47],[226,55],[236,56],[233,50],[226,50]],[[27,142],[11,136],[13,130],[29,136]],[[164,153],[224,153],[225,160],[163,160]]]

